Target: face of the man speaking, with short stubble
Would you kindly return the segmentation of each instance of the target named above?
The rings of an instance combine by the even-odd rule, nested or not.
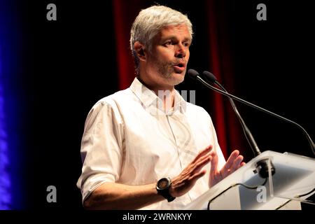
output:
[[[147,57],[147,74],[158,85],[174,86],[185,77],[189,59],[190,33],[186,25],[167,26],[153,38]]]

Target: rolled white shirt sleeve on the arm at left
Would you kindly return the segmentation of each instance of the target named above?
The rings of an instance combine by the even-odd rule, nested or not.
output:
[[[87,116],[81,141],[83,168],[77,186],[83,202],[102,183],[119,179],[122,144],[123,120],[118,109],[97,102]]]

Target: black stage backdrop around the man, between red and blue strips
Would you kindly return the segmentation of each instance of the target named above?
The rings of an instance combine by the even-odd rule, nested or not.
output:
[[[132,2],[139,10],[154,3]],[[188,14],[195,31],[188,68],[209,67],[206,1],[155,2]],[[227,18],[225,34],[234,64],[233,89],[225,85],[228,81],[221,83],[232,94],[294,120],[314,137],[315,38],[308,1],[215,2],[216,10]],[[57,21],[46,20],[48,3],[56,4]],[[267,21],[256,20],[258,3],[266,4]],[[21,113],[27,117],[20,131],[27,152],[21,170],[23,208],[82,209],[76,181],[85,118],[95,102],[119,89],[112,2],[16,1],[12,8],[22,30],[17,86],[22,83]],[[197,90],[196,104],[211,115],[209,96],[216,93],[189,78],[178,89]],[[296,127],[237,105],[262,151],[313,157]],[[246,162],[251,160],[246,142],[241,151]],[[57,203],[46,201],[50,185],[57,188]]]

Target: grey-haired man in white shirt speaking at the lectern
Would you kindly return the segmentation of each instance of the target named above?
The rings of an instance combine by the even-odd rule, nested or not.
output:
[[[181,209],[244,165],[227,162],[207,111],[174,89],[186,73],[193,29],[165,6],[141,10],[130,45],[137,77],[87,116],[77,186],[87,209]],[[161,94],[162,93],[162,94]]]

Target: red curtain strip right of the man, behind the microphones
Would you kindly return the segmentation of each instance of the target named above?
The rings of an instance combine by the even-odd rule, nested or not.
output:
[[[227,29],[226,1],[209,0],[206,10],[209,21],[209,70],[231,92],[230,90],[235,90],[235,69]],[[227,158],[232,150],[242,151],[244,149],[244,138],[241,137],[241,127],[228,99],[215,92],[211,93],[211,96],[214,97],[214,109],[212,110],[214,114],[211,117],[214,120],[219,144]]]

